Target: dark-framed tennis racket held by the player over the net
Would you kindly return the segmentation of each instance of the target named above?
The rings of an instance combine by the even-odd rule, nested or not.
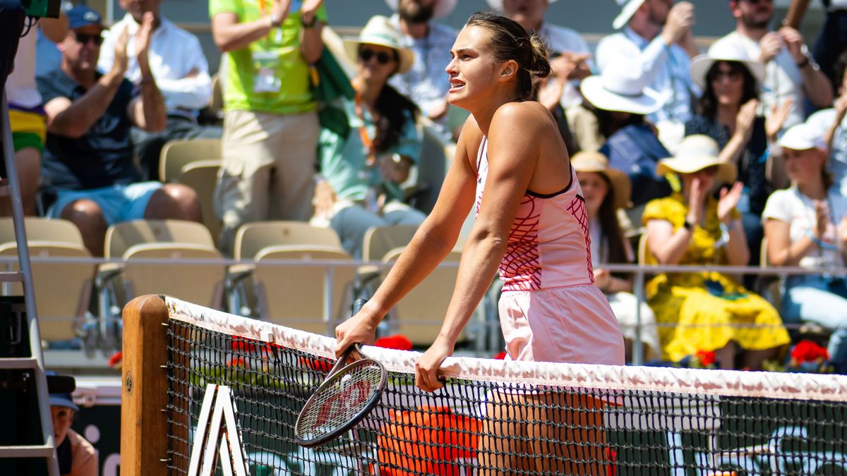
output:
[[[365,302],[357,299],[353,303],[353,315]],[[361,358],[348,365],[353,351]],[[297,444],[324,445],[352,429],[379,403],[387,380],[385,366],[363,354],[359,344],[347,347],[300,411],[294,426]]]

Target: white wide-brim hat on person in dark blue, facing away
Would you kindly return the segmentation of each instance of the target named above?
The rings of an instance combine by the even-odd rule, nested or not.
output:
[[[595,75],[582,80],[579,91],[595,108],[647,115],[664,104],[664,97],[649,87],[638,87],[622,75]]]

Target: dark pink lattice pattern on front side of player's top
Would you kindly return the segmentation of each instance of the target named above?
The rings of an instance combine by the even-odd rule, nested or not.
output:
[[[538,233],[541,213],[536,211],[536,199],[523,196],[519,212],[509,230],[506,254],[500,263],[500,273],[505,281],[505,291],[533,291],[541,289],[541,266],[538,250]]]

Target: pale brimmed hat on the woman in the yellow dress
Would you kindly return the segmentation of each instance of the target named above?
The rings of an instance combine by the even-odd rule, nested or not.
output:
[[[735,165],[733,163],[722,162],[718,158],[721,149],[717,146],[717,142],[709,136],[695,134],[688,136],[679,142],[677,147],[677,155],[672,158],[663,158],[659,161],[656,167],[657,175],[664,175],[669,172],[678,174],[694,174],[697,171],[717,165],[716,180],[721,183],[731,184],[735,181]]]

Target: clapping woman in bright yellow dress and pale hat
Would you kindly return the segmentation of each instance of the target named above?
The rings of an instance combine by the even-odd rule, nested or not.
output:
[[[658,263],[744,266],[750,259],[735,209],[742,185],[734,182],[734,164],[722,162],[719,153],[711,137],[688,136],[674,158],[659,163],[659,174],[679,175],[682,190],[645,208],[647,246]],[[715,198],[710,191],[716,181],[734,185]],[[721,368],[758,370],[789,343],[777,310],[726,274],[659,274],[645,291],[662,326],[663,356],[673,362],[715,351]]]

